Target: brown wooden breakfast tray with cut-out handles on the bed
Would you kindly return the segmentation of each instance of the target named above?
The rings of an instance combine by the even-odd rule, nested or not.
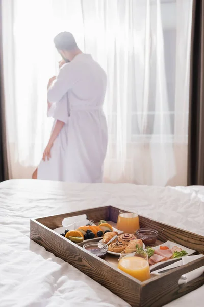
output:
[[[100,259],[53,231],[53,229],[62,226],[64,218],[83,214],[86,214],[89,220],[92,218],[95,222],[105,220],[116,223],[119,210],[119,208],[106,206],[32,219],[30,236],[32,240],[42,245],[47,251],[69,262],[133,307],[160,307],[204,284],[204,274],[181,286],[178,284],[181,275],[204,266],[204,257],[140,282],[118,270],[114,263],[112,264],[108,260],[110,256],[108,256],[107,261],[106,258],[105,260]],[[139,222],[141,228],[153,228],[158,231],[165,228],[165,231],[158,237],[161,242],[171,240],[204,254],[203,236],[150,220],[144,216],[139,216]]]

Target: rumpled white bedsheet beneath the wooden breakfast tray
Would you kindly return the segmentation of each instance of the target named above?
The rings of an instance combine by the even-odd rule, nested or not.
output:
[[[10,180],[0,184],[0,306],[129,306],[32,242],[30,218],[113,205],[204,235],[204,204],[188,188]],[[203,306],[204,286],[168,307]]]

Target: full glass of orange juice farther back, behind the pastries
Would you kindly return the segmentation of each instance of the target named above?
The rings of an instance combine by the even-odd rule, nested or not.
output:
[[[139,217],[136,213],[120,210],[116,227],[118,230],[121,230],[124,233],[135,234],[140,228]]]

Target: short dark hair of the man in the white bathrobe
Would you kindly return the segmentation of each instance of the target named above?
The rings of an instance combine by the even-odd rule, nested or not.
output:
[[[78,48],[77,43],[70,32],[61,32],[56,35],[54,43],[58,50],[73,50]]]

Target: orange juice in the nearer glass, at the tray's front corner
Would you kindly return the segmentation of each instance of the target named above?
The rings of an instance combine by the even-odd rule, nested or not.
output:
[[[123,257],[120,259],[118,269],[137,278],[140,281],[145,281],[150,278],[148,261],[141,257]]]

